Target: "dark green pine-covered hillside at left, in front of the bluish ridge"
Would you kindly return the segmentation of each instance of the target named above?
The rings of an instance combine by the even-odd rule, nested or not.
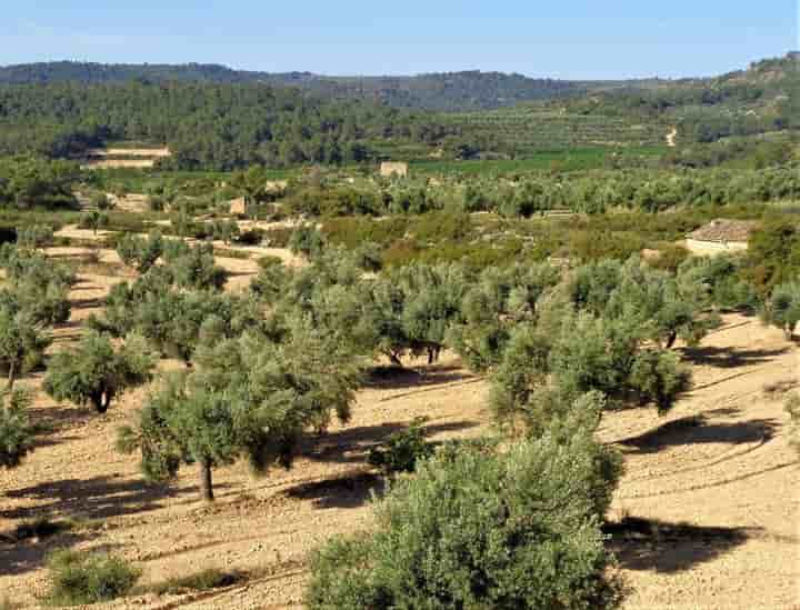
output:
[[[382,142],[458,133],[428,112],[308,98],[261,83],[0,86],[0,156],[80,157],[108,141],[168,146],[183,169],[358,162]]]

